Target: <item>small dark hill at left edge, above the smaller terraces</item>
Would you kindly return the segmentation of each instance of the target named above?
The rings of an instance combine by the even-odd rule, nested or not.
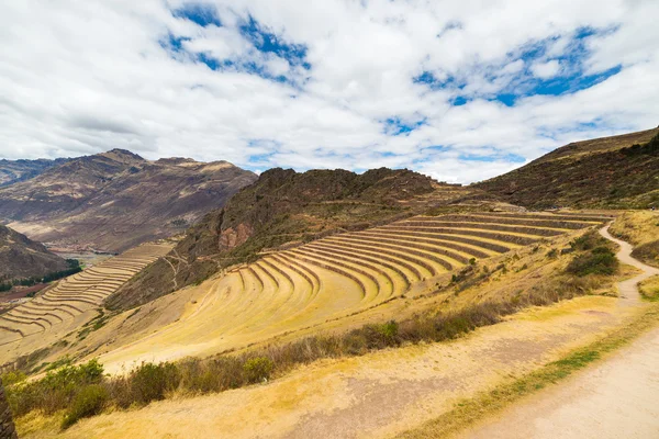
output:
[[[0,280],[42,277],[67,268],[63,258],[42,244],[0,225]]]

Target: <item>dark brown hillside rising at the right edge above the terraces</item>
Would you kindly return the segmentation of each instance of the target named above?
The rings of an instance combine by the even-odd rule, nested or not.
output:
[[[569,144],[473,188],[534,209],[659,206],[659,128]]]

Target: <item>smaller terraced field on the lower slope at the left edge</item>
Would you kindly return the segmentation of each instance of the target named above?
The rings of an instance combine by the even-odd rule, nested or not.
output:
[[[171,249],[145,244],[59,281],[34,300],[0,315],[0,344],[44,333],[97,308],[144,267]]]

